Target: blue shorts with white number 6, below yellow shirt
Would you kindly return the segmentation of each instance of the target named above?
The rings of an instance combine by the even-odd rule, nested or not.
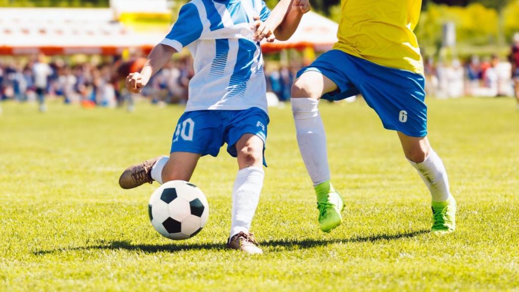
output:
[[[384,67],[331,50],[297,73],[317,71],[330,78],[339,89],[322,98],[341,100],[362,94],[386,129],[407,136],[427,136],[425,78],[411,71]]]

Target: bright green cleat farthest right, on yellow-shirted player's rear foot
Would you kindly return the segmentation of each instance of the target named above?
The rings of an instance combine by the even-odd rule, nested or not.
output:
[[[456,229],[456,200],[432,202],[432,227],[434,233],[450,233]]]

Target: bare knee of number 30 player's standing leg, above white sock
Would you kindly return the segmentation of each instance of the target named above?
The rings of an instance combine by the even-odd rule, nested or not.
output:
[[[238,167],[262,167],[263,164],[263,140],[255,134],[244,134],[236,142]]]

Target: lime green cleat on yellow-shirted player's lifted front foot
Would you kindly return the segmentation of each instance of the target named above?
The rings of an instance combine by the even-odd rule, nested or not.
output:
[[[319,226],[328,233],[343,223],[340,211],[344,209],[343,197],[337,193],[330,181],[325,181],[314,188],[319,209]]]

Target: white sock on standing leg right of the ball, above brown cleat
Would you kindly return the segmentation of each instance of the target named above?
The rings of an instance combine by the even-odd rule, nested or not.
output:
[[[256,207],[260,202],[265,171],[261,167],[247,167],[238,171],[233,189],[233,217],[230,237],[249,232]]]

